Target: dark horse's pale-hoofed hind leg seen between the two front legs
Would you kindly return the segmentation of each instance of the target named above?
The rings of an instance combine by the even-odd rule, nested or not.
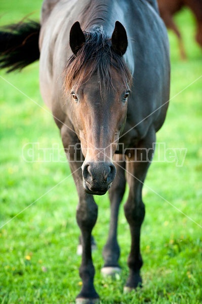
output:
[[[120,249],[117,242],[117,220],[120,202],[122,201],[125,193],[126,178],[125,162],[118,163],[119,159],[123,159],[123,155],[114,156],[114,161],[117,162],[118,165],[114,163],[116,166],[116,177],[109,190],[111,216],[109,235],[102,252],[104,257],[104,267],[102,268],[101,272],[103,275],[114,275],[114,273],[120,272],[120,267],[118,264]]]

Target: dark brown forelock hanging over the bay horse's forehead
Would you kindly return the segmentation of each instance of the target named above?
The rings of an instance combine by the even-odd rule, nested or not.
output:
[[[86,83],[94,73],[98,74],[100,86],[113,88],[111,68],[122,74],[126,88],[132,84],[132,75],[122,56],[111,47],[111,39],[102,26],[84,32],[86,42],[76,55],[72,55],[64,70],[64,89],[68,93],[72,86]]]

